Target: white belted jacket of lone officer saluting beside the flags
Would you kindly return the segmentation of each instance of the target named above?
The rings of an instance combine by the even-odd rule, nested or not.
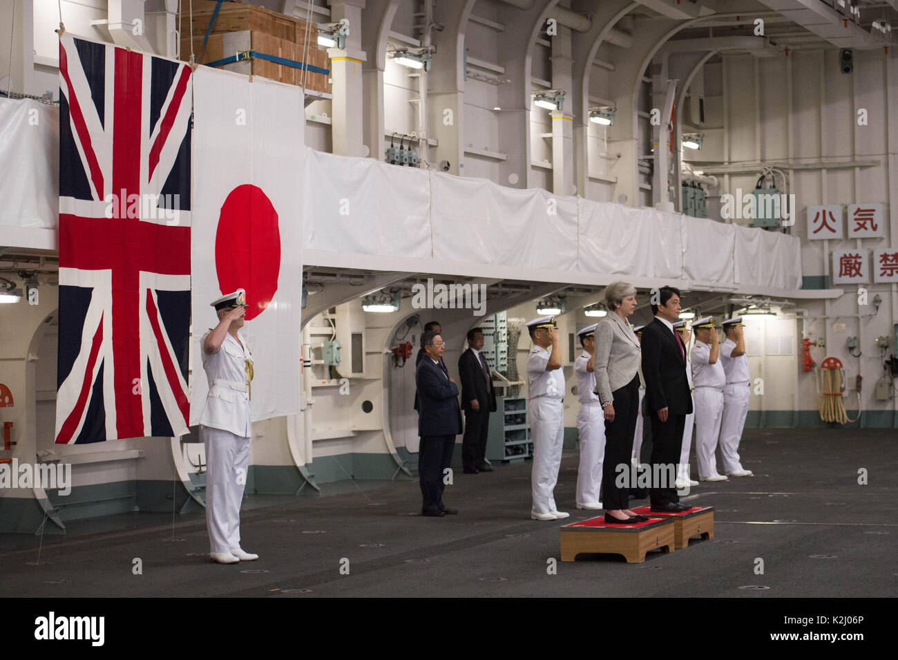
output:
[[[225,335],[225,341],[217,353],[207,353],[202,347],[206,344],[209,332],[199,342],[200,350],[203,351],[203,369],[209,384],[206,407],[199,423],[204,427],[228,431],[234,436],[250,437],[250,392],[246,374],[246,361],[252,362],[250,348],[239,332],[239,341],[229,333]]]

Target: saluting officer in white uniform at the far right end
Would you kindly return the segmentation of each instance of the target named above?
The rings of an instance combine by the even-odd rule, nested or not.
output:
[[[720,455],[724,470],[730,477],[748,477],[739,462],[739,441],[748,416],[748,400],[751,398],[748,356],[745,355],[745,336],[741,316],[723,322],[726,341],[720,347],[720,357],[726,373],[724,388],[724,416],[720,423]]]

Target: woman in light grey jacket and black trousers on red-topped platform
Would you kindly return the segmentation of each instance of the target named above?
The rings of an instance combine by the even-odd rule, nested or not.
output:
[[[614,282],[605,288],[608,315],[595,326],[595,393],[605,418],[605,460],[602,466],[606,524],[648,520],[627,508],[629,488],[618,488],[618,466],[630,477],[630,453],[639,408],[639,340],[627,321],[636,311],[636,288]]]

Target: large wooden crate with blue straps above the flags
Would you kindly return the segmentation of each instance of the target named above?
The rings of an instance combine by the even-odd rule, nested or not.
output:
[[[193,0],[193,29],[189,27],[189,9],[182,4],[180,22],[183,38],[180,43],[180,58],[190,59],[190,40],[198,64],[208,64],[224,57],[233,56],[237,49],[255,50],[257,53],[283,57],[306,65],[330,70],[330,58],[318,46],[318,28],[314,23],[272,12],[264,7],[239,2],[222,4],[216,22],[206,43],[201,49],[215,0]],[[245,38],[243,33],[249,33]],[[306,49],[305,42],[309,41]],[[245,48],[235,48],[237,43],[246,43]],[[280,83],[302,84],[316,92],[330,92],[330,75],[304,71],[292,66],[280,65],[264,59],[253,58],[249,63],[226,65],[226,69],[244,74],[260,75]]]

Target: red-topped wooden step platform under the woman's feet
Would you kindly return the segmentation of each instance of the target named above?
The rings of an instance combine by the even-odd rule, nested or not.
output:
[[[600,515],[561,528],[561,561],[574,561],[582,552],[623,555],[641,564],[648,550],[674,551],[674,521],[654,516],[645,523],[605,524]]]

